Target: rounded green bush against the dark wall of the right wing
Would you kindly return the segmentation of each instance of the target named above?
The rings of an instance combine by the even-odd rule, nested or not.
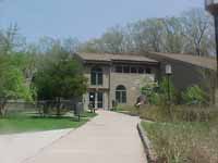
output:
[[[198,86],[189,87],[184,92],[182,92],[182,99],[185,104],[193,105],[203,105],[208,104],[208,96],[206,92],[201,89]]]

